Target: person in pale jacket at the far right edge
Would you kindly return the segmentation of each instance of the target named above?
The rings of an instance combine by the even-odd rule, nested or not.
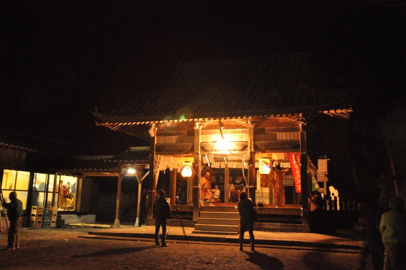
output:
[[[380,222],[385,246],[384,269],[404,269],[406,265],[406,213],[400,198],[389,200],[389,210]]]

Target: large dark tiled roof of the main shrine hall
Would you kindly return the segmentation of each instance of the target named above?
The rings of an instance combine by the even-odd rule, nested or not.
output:
[[[328,72],[310,64],[310,59],[310,55],[296,54],[181,64],[155,100],[94,115],[100,123],[133,125],[168,119],[298,114],[351,107],[353,93],[343,83],[345,80],[325,75]]]

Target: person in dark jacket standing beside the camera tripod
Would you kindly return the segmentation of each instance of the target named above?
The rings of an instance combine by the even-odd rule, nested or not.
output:
[[[166,220],[171,216],[171,206],[165,199],[165,191],[158,190],[153,206],[155,217],[155,247],[159,247],[159,228],[162,227],[161,247],[166,247]]]

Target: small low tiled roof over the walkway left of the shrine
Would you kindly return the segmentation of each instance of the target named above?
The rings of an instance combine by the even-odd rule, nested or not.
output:
[[[59,172],[113,172],[122,162],[133,164],[149,163],[149,147],[130,147],[115,156],[77,156],[71,168],[58,169]]]

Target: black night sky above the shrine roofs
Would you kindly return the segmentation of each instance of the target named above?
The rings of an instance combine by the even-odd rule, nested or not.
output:
[[[179,61],[236,56],[312,52],[351,75],[365,101],[360,107],[383,106],[404,82],[406,9],[382,3],[3,4],[0,139],[36,138],[74,154],[148,145],[95,126],[90,111],[159,92]]]

